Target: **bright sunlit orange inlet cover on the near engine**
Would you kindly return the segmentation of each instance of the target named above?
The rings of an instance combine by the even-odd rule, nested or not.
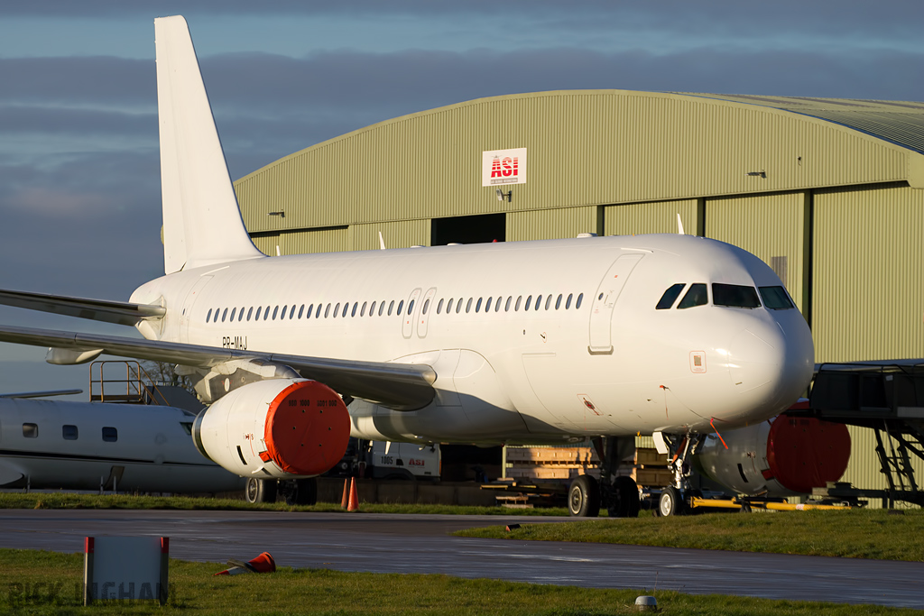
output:
[[[330,387],[302,380],[286,387],[266,413],[266,453],[292,475],[321,475],[346,453],[350,419]]]

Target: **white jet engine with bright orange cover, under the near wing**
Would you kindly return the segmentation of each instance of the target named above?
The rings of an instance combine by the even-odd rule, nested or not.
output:
[[[227,393],[192,427],[196,448],[241,477],[314,477],[346,453],[346,405],[316,380],[272,379]]]

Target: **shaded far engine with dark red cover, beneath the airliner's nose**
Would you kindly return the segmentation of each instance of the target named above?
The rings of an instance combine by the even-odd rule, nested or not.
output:
[[[850,434],[844,424],[783,414],[722,432],[721,439],[710,434],[693,465],[739,494],[776,498],[808,494],[837,481],[849,459]]]

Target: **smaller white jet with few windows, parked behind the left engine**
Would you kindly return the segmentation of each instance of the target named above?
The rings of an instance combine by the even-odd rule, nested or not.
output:
[[[22,395],[0,396],[0,489],[188,493],[244,488],[240,477],[203,459],[192,446],[194,413]]]

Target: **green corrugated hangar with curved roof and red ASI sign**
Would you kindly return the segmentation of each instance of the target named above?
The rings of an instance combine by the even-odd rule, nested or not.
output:
[[[770,264],[816,361],[924,357],[924,103],[514,94],[362,128],[235,187],[270,255],[377,249],[380,232],[389,248],[675,233],[679,213]],[[871,430],[851,436],[869,456],[844,480],[882,487]]]

